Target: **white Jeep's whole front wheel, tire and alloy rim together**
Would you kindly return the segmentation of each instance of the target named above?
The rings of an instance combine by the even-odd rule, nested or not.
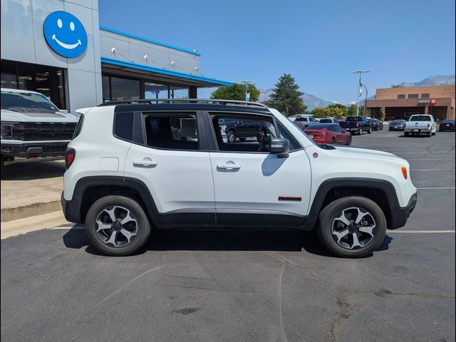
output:
[[[339,257],[371,254],[385,239],[382,209],[366,197],[343,197],[328,204],[318,216],[318,237]]]

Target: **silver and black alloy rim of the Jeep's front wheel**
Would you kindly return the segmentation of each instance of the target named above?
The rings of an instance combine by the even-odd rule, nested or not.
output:
[[[366,247],[374,237],[375,219],[362,207],[348,207],[333,219],[331,234],[334,241],[345,249]]]

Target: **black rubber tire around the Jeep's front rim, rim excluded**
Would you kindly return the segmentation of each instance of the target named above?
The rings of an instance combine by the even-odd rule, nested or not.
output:
[[[373,223],[375,224],[375,227],[372,229],[371,237],[369,237],[369,234],[363,232],[347,233],[346,237],[343,237],[343,239],[348,239],[348,242],[350,238],[353,240],[353,234],[356,234],[356,237],[358,237],[358,234],[360,234],[363,239],[366,238],[366,240],[360,240],[361,243],[364,241],[366,245],[361,247],[360,244],[360,247],[357,249],[349,249],[348,247],[343,247],[341,244],[344,244],[345,242],[342,242],[342,239],[338,239],[338,241],[341,241],[341,244],[339,244],[338,241],[336,241],[336,235],[333,233],[333,224],[335,224],[337,218],[342,215],[341,213],[343,213],[344,209],[346,212],[354,210],[348,209],[352,207],[357,207],[360,208],[363,212],[367,212],[370,216],[368,217],[366,215],[365,217],[368,217],[368,219],[373,219]],[[349,219],[347,220],[350,221]],[[363,221],[361,220],[361,222]],[[346,227],[347,228],[343,230],[349,229],[349,226]],[[385,214],[382,212],[382,209],[380,209],[380,207],[378,207],[378,204],[373,202],[371,199],[368,199],[366,197],[350,196],[336,199],[335,201],[328,204],[323,210],[321,210],[320,214],[318,215],[318,224],[316,229],[318,237],[329,252],[336,254],[338,257],[361,258],[371,254],[375,251],[375,249],[378,249],[380,244],[382,244],[386,234],[386,219]],[[356,227],[353,229],[356,229]],[[343,232],[343,230],[340,232]],[[348,243],[348,245],[349,244],[350,243]],[[354,245],[355,242],[353,240],[352,246],[354,247]]]

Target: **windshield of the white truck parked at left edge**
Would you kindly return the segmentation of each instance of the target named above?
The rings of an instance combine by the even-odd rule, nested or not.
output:
[[[1,109],[16,112],[58,112],[58,108],[44,95],[9,91],[1,92]]]

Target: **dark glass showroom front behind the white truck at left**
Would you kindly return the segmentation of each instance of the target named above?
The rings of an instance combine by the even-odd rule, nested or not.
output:
[[[38,91],[49,98],[57,108],[66,109],[64,70],[2,59],[1,88]]]

